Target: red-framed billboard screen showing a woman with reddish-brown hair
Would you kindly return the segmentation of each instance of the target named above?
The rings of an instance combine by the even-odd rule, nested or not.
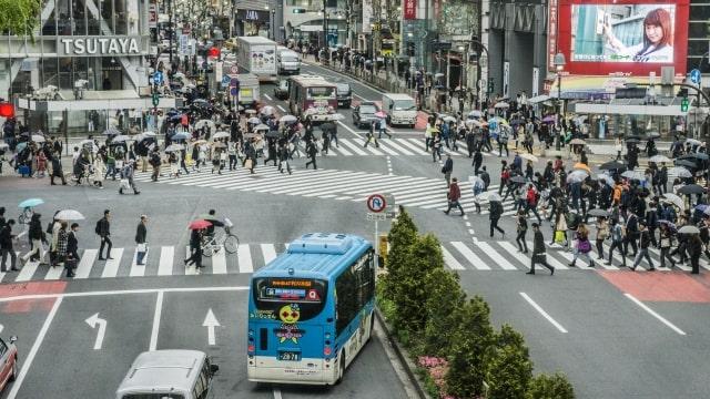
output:
[[[686,72],[688,0],[561,0],[558,49],[576,74]]]

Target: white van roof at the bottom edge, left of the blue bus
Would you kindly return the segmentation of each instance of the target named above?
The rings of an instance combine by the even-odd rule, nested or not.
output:
[[[116,399],[206,399],[220,368],[200,350],[139,355],[115,391]]]

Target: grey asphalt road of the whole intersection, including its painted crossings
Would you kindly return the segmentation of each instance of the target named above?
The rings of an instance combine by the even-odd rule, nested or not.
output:
[[[304,66],[304,72],[345,80],[318,66]],[[382,98],[361,83],[353,86],[356,99]],[[262,93],[271,96],[271,88],[264,85]],[[284,102],[273,98],[270,103],[285,109]],[[119,195],[113,182],[99,191],[0,176],[0,204],[10,209],[9,217],[17,213],[16,203],[31,196],[47,202],[38,207],[44,221],[60,208],[78,208],[88,217],[79,236],[80,247],[87,249],[84,259],[89,259],[81,278],[60,286],[55,283],[62,280],[61,273],[44,266],[0,275],[0,297],[31,291],[33,286],[28,282],[49,284],[40,286],[41,290],[78,293],[63,297],[41,340],[38,337],[52,300],[0,304],[2,334],[20,337],[21,362],[28,361],[37,346],[14,397],[64,397],[57,393],[63,392],[61,388],[72,389],[81,395],[78,397],[109,397],[135,355],[148,350],[151,342],[159,349],[197,348],[214,356],[221,367],[215,381],[217,397],[273,397],[273,390],[257,389],[244,378],[244,291],[215,287],[245,286],[253,270],[283,250],[285,243],[307,232],[348,232],[374,239],[375,225],[366,219],[364,198],[378,192],[394,193],[420,232],[439,237],[447,265],[459,273],[466,291],[489,301],[496,325],[509,323],[525,335],[537,371],[567,372],[579,398],[707,397],[710,382],[703,371],[708,367],[703,355],[709,350],[710,282],[704,276],[632,274],[623,270],[618,259],[609,268],[600,264],[590,268],[586,263],[566,268],[569,254],[559,248],[548,253],[559,267],[554,277],[547,270],[525,275],[529,258],[516,252],[510,200],[500,221],[505,237],[488,236],[486,206],[481,215],[474,212],[467,183],[462,184],[466,216],[459,217],[457,212],[444,215],[446,184],[439,162],[423,152],[423,132],[395,127],[394,137],[383,140],[381,149],[363,149],[362,130],[352,125],[351,110],[341,112],[346,117],[338,129],[342,142],[334,149],[335,155],[320,156],[317,171],[305,170],[305,158],[297,158],[292,163],[292,176],[261,164],[254,176],[242,170],[222,176],[203,171],[176,180],[163,177],[155,184],[139,174],[142,193],[138,196]],[[452,153],[454,175],[466,182],[473,174],[470,160],[465,150]],[[536,163],[536,170],[541,170],[544,162]],[[497,152],[486,154],[484,164],[496,185],[500,170]],[[104,208],[112,209],[112,237],[114,247],[121,249],[113,252],[114,257],[121,256],[112,264],[95,259],[99,241],[93,224]],[[194,268],[185,268],[181,262],[189,238],[185,224],[210,208],[234,222],[240,252],[205,259],[205,272],[192,276]],[[150,217],[151,252],[144,269],[132,262],[141,214]],[[388,227],[389,222],[378,224],[379,232]],[[547,225],[544,234],[549,241]],[[707,273],[707,260],[703,267]],[[151,339],[159,290],[189,287],[204,290],[163,291],[160,326]],[[115,294],[125,289],[148,291]],[[84,295],[92,291],[103,294]],[[209,309],[222,325],[214,347],[207,345],[202,327]],[[97,331],[85,323],[97,313],[108,323],[100,350],[93,349]],[[280,387],[280,393],[284,398],[406,397],[383,342],[377,339],[373,344],[361,354],[343,385],[331,390]],[[81,381],[80,388],[77,381]],[[10,395],[6,390],[0,398],[14,398]]]

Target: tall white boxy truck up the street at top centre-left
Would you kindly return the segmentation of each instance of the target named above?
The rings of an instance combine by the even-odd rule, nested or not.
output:
[[[254,74],[260,82],[275,82],[278,78],[276,42],[263,37],[240,37],[236,42],[240,73]]]

